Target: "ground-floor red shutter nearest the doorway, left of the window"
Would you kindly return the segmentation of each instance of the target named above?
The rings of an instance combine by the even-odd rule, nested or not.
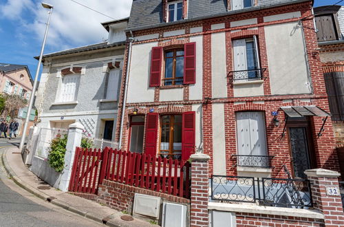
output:
[[[146,144],[144,147],[144,153],[146,155],[155,156],[156,154],[156,141],[158,139],[158,117],[157,113],[147,114],[146,125]]]

